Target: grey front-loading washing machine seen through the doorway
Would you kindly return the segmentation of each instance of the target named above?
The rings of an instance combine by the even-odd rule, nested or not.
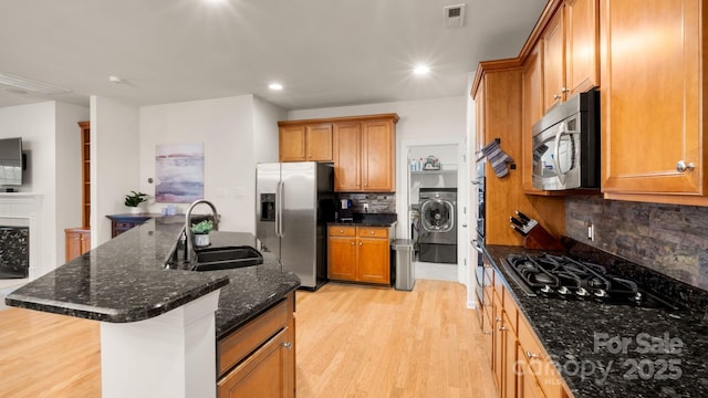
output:
[[[457,188],[420,188],[418,260],[457,263]]]

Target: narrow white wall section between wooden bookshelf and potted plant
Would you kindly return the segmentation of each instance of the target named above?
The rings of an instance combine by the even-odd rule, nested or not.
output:
[[[125,213],[125,195],[139,189],[138,108],[91,97],[91,247],[111,240],[107,214]]]

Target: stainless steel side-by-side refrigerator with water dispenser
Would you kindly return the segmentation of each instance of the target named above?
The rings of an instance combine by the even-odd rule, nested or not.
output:
[[[301,286],[326,282],[326,223],[334,221],[334,168],[315,161],[258,164],[256,235]]]

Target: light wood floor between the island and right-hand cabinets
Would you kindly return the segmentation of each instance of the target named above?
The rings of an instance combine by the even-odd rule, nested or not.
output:
[[[477,314],[456,282],[296,293],[299,397],[494,397]]]

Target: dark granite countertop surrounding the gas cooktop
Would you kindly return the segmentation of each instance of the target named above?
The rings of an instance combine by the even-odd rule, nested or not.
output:
[[[541,251],[486,249],[575,397],[708,396],[708,322],[700,308],[528,297],[500,266],[500,259]]]

